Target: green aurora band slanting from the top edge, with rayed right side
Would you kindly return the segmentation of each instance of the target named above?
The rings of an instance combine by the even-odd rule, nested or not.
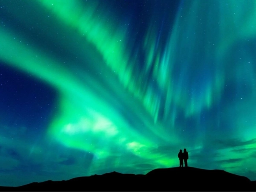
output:
[[[159,110],[159,101],[156,95],[150,94],[151,90],[147,88],[147,84],[138,84],[137,82],[147,79],[147,73],[134,76],[133,71],[136,70],[136,57],[133,57],[131,51],[126,48],[126,37],[129,37],[127,29],[119,28],[117,24],[111,22],[108,25],[108,17],[105,15],[98,15],[95,17],[95,9],[97,3],[88,4],[84,6],[80,1],[67,0],[65,3],[61,0],[39,1],[47,7],[52,13],[65,23],[67,26],[78,30],[80,35],[85,35],[87,41],[92,42],[100,54],[104,57],[106,64],[118,76],[120,83],[126,90],[131,92],[134,97],[144,104],[145,109],[154,117],[154,123]],[[84,2],[83,2],[84,3]],[[74,11],[76,7],[76,11]],[[86,7],[86,8],[80,8]],[[98,13],[98,12],[97,12]],[[109,16],[109,15],[108,15]],[[109,16],[110,17],[110,16]],[[113,26],[114,25],[114,26]],[[115,30],[113,30],[113,28]],[[132,44],[133,42],[129,42]],[[148,125],[152,127],[152,125]],[[156,135],[169,141],[170,138],[166,135],[161,124],[157,124],[158,130],[152,128]]]

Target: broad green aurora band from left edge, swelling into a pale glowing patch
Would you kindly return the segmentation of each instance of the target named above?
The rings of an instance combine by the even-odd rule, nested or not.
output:
[[[70,4],[64,5],[70,6]],[[68,13],[67,10],[65,10],[65,13]],[[84,20],[82,21],[84,22]],[[92,33],[98,34],[95,31]],[[109,151],[108,146],[116,145],[117,148],[121,147],[122,150],[130,151],[139,157],[150,159],[152,162],[162,166],[170,166],[170,163],[173,163],[168,157],[163,157],[161,153],[148,155],[150,150],[157,148],[154,141],[150,141],[136,133],[133,127],[130,127],[117,111],[109,110],[111,105],[96,96],[89,87],[86,87],[86,84],[76,78],[75,74],[70,73],[69,68],[64,68],[58,59],[46,54],[39,48],[29,47],[20,43],[19,40],[22,37],[16,34],[10,34],[1,29],[0,36],[3,39],[0,47],[1,59],[11,66],[35,74],[37,78],[48,82],[59,90],[60,112],[49,127],[49,133],[59,142],[65,146],[89,151],[101,158],[111,156],[112,151]],[[117,35],[114,36],[117,37]],[[105,36],[102,35],[100,37],[103,38]],[[100,37],[98,38],[100,39]],[[116,52],[120,50],[120,47],[115,45],[111,46],[110,44],[110,47],[111,50]],[[15,53],[15,55],[10,55],[10,53]],[[106,59],[107,63],[115,60],[115,64],[117,64],[121,60],[121,56],[115,57],[115,55],[122,54],[112,54],[112,59]],[[102,64],[98,63],[98,65]],[[93,81],[93,79],[84,80]],[[130,85],[130,83],[128,84]],[[97,87],[98,84],[95,82],[94,86]],[[138,113],[141,112],[138,111]],[[152,129],[158,135],[162,135],[163,138],[170,138],[154,128],[150,121],[147,120],[148,117],[143,113],[139,116],[144,119],[145,126],[148,126],[149,129]],[[89,139],[86,140],[86,138]],[[102,143],[102,140],[108,140],[109,142],[107,144]]]

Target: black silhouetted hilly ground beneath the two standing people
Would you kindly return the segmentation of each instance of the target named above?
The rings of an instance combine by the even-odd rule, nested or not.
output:
[[[67,181],[45,181],[0,191],[256,191],[256,182],[223,170],[155,169],[146,175],[112,172]]]

